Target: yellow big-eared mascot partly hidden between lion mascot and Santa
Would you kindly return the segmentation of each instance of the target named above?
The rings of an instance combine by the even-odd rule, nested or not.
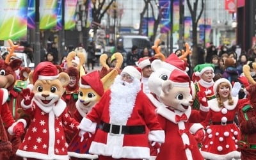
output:
[[[79,84],[79,97],[76,102],[76,113],[75,118],[77,122],[81,122],[84,116],[89,113],[93,106],[99,102],[100,97],[104,94],[110,85],[113,83],[115,77],[118,75],[116,70],[112,70],[102,79],[100,79],[100,72],[95,70],[89,74],[81,76],[81,81]],[[97,159],[97,155],[89,154],[89,148],[94,139],[95,134],[92,134],[90,138],[81,142],[81,137],[78,132],[74,136],[70,145],[68,146],[68,155],[74,160],[80,159]]]

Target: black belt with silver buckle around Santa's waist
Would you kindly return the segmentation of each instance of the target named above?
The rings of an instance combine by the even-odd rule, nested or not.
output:
[[[144,134],[145,125],[115,125],[101,122],[99,128],[110,134]]]

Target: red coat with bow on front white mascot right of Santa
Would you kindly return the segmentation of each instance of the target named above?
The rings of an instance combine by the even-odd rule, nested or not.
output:
[[[147,94],[147,96],[157,108],[158,120],[165,132],[165,141],[161,145],[156,159],[204,159],[198,149],[198,143],[193,136],[203,126],[194,123],[202,122],[205,119],[209,107],[201,106],[199,111],[192,110],[189,107],[186,112],[182,113],[177,110],[168,109],[167,106],[159,102],[152,94]],[[188,119],[176,122],[175,116],[182,116],[183,114]]]

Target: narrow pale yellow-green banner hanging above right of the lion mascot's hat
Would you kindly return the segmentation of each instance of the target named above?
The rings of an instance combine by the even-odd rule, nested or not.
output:
[[[76,4],[77,0],[65,0],[65,30],[76,27]]]

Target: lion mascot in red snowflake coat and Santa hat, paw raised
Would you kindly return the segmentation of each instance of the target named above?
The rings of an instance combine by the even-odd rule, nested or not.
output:
[[[64,72],[58,74],[55,65],[44,61],[29,74],[29,81],[33,91],[22,90],[21,106],[32,120],[16,154],[27,159],[68,159],[64,126],[77,131],[79,125],[61,99],[69,77]]]

